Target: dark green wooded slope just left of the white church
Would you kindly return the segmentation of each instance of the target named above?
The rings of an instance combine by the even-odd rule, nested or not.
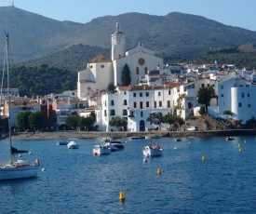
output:
[[[44,96],[74,90],[77,86],[77,73],[49,67],[47,64],[34,67],[15,67],[10,72],[11,87],[20,89],[20,96]]]

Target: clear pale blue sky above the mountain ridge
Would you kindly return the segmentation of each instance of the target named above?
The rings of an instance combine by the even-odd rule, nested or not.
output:
[[[12,2],[47,18],[79,23],[128,12],[165,16],[176,11],[256,31],[256,0],[0,0],[0,7]]]

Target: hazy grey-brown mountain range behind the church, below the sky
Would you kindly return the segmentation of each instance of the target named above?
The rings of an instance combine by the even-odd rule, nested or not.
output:
[[[1,32],[10,34],[15,62],[40,58],[79,44],[111,48],[116,22],[126,34],[127,49],[142,42],[163,58],[193,59],[210,48],[256,43],[256,32],[179,12],[166,16],[125,13],[76,23],[48,19],[13,6],[0,7]],[[1,58],[4,38],[0,39]]]

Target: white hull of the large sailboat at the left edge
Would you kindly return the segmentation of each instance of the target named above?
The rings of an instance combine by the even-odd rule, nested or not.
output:
[[[0,181],[34,178],[37,172],[38,167],[0,168]]]

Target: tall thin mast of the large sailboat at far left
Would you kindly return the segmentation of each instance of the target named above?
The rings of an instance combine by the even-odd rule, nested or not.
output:
[[[7,33],[7,97],[8,97],[8,128],[9,128],[9,162],[12,163],[12,142],[11,142],[11,125],[10,125],[10,83],[9,83],[9,34]]]

